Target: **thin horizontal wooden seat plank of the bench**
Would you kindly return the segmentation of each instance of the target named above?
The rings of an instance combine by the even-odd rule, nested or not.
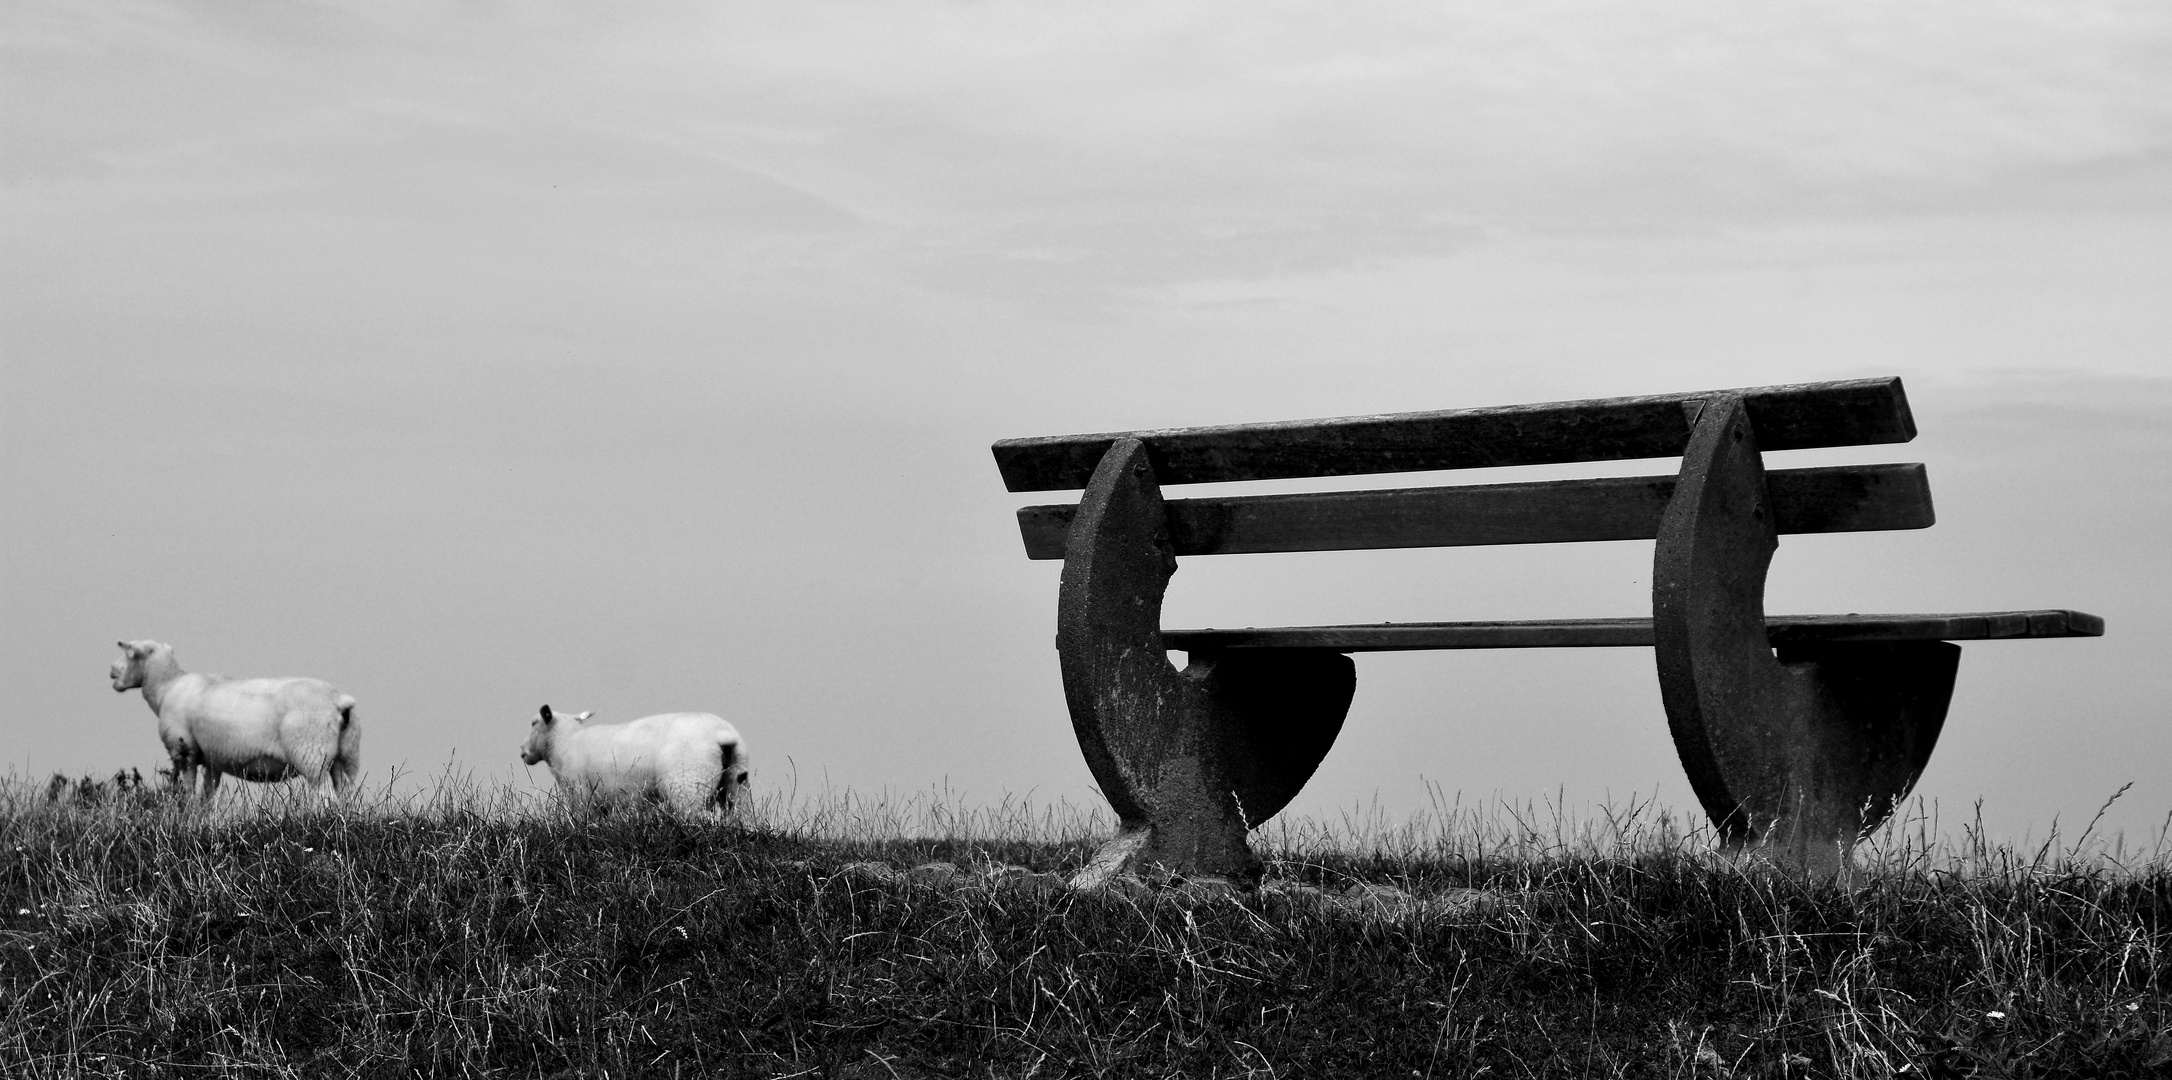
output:
[[[2105,619],[2083,611],[1974,611],[1950,615],[1770,615],[1775,645],[1827,641],[1994,641],[2011,637],[2102,637]],[[1516,650],[1651,645],[1651,619],[1405,621],[1362,626],[1275,626],[1164,630],[1173,650],[1310,648],[1334,652]]]

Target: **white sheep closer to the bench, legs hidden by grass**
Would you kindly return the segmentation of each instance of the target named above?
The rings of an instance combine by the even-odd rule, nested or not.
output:
[[[678,813],[728,813],[747,793],[747,743],[723,717],[660,713],[586,724],[545,704],[521,743],[521,763],[547,763],[576,806],[658,800]]]

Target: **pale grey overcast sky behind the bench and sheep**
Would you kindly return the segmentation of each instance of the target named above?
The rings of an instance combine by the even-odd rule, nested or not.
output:
[[[1097,804],[995,439],[1901,376],[1914,443],[1772,465],[1922,461],[1937,526],[1788,537],[1768,608],[2102,615],[1963,645],[1918,793],[2172,813],[2161,4],[24,0],[0,185],[0,774],[159,765],[154,637],[332,680],[395,787],[547,784],[550,702]],[[1192,558],[1164,621],[1649,574]],[[1694,811],[1646,650],[1425,652],[1286,813],[1644,798]]]

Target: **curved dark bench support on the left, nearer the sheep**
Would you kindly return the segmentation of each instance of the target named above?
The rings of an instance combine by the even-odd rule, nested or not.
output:
[[[1358,667],[1329,650],[1218,650],[1177,671],[1162,645],[1175,569],[1147,448],[1119,439],[1079,500],[1056,613],[1071,726],[1132,850],[1095,865],[1253,880],[1245,832],[1327,756]]]

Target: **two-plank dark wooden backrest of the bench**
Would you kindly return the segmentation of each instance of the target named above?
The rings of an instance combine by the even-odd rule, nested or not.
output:
[[[1003,439],[1010,491],[1082,489],[1116,439],[1147,443],[1160,485],[1679,456],[1705,400],[1740,395],[1759,450],[1905,443],[1898,378],[1440,413]],[[1766,474],[1779,532],[1927,528],[1922,465]],[[1169,500],[1175,554],[1653,539],[1672,476]],[[1030,558],[1062,558],[1077,506],[1025,506]]]

